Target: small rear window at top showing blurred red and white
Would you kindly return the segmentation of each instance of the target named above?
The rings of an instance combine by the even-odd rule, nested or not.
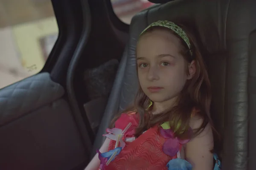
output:
[[[135,14],[154,5],[148,0],[111,0],[111,3],[116,16],[127,24]]]

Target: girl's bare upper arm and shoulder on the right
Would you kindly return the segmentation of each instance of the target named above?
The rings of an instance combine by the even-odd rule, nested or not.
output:
[[[201,119],[192,118],[192,129],[200,127],[201,123]],[[212,170],[213,154],[211,150],[213,145],[212,127],[209,124],[198,136],[186,144],[186,160],[192,164],[193,170]]]

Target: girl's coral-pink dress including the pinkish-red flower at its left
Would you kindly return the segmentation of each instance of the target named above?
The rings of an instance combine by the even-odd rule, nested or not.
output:
[[[123,113],[120,118],[115,122],[115,128],[124,130],[128,124],[131,126],[122,135],[122,141],[134,137],[135,129],[138,126],[139,119],[135,113]],[[114,128],[114,129],[115,129]],[[171,139],[171,136],[161,133],[160,126],[154,126],[145,131],[137,139],[132,142],[125,142],[122,151],[101,170],[168,170],[166,164],[177,158],[178,151],[182,148],[182,144],[188,142],[178,142],[174,139],[171,143],[175,143],[175,147],[168,146],[164,152],[164,144]],[[163,129],[162,129],[163,131]],[[109,132],[109,129],[107,129]],[[107,136],[107,135],[106,135]],[[108,136],[107,136],[108,137]],[[116,146],[116,140],[111,140],[108,151],[120,147],[121,143]],[[167,153],[167,154],[166,154]]]

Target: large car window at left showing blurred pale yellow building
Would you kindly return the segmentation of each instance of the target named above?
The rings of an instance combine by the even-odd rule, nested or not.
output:
[[[57,37],[51,0],[0,0],[0,88],[41,71]]]

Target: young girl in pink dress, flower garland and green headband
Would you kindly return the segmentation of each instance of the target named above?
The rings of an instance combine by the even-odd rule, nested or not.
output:
[[[137,72],[134,105],[85,170],[212,170],[210,82],[195,39],[175,23],[152,23],[137,42]]]

